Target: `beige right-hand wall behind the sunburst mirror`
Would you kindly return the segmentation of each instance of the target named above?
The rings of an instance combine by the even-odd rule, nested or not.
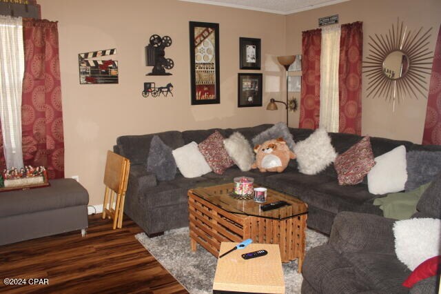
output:
[[[397,18],[407,24],[409,30],[426,30],[433,27],[429,39],[434,50],[441,23],[440,0],[351,0],[333,6],[291,14],[287,17],[287,54],[301,54],[302,31],[318,28],[318,18],[339,14],[340,23],[363,22],[363,60],[369,52],[369,35],[386,34]],[[427,78],[429,82],[429,77]],[[362,79],[362,134],[391,139],[407,139],[421,143],[426,116],[427,99],[410,98],[392,104],[384,97],[367,98],[367,78]],[[429,88],[429,84],[427,84]],[[299,112],[291,116],[294,126],[298,126]]]

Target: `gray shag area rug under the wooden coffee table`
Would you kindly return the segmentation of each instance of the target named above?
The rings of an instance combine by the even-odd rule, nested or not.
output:
[[[306,250],[327,242],[328,237],[307,229]],[[217,258],[200,245],[190,248],[189,229],[178,228],[149,238],[145,233],[136,239],[178,280],[189,293],[212,293]],[[297,273],[297,260],[283,264],[286,293],[300,293],[303,277]]]

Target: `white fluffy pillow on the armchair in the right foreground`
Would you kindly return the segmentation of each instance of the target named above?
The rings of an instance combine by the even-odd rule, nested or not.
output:
[[[413,271],[425,260],[441,255],[440,219],[404,219],[393,225],[395,253]]]

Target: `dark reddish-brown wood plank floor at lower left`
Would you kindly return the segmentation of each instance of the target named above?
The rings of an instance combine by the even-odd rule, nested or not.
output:
[[[89,217],[79,231],[0,246],[0,292],[188,293],[134,238],[141,228],[124,216],[123,228]],[[47,278],[49,285],[6,286],[5,278]]]

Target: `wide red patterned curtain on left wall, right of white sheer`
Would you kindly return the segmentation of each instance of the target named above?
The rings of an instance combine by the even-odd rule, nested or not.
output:
[[[63,112],[57,22],[23,19],[23,161],[64,177]]]

